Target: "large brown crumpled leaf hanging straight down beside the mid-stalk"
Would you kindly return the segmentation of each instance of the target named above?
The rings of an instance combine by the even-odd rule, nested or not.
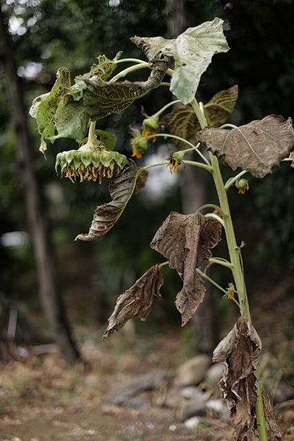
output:
[[[221,234],[222,225],[215,219],[201,213],[171,212],[150,243],[151,248],[168,258],[170,268],[176,269],[184,282],[175,302],[182,314],[182,326],[204,298],[204,283],[196,268],[208,262],[210,248],[219,243]]]

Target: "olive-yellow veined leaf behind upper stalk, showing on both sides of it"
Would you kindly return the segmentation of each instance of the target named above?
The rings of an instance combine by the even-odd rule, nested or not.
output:
[[[233,112],[237,98],[237,85],[233,85],[233,88],[228,90],[217,92],[217,94],[204,105],[208,125],[224,124],[228,118],[228,114]],[[186,105],[175,107],[172,112],[164,116],[160,124],[164,132],[180,136],[196,145],[197,132],[201,127],[192,107]],[[186,143],[179,141],[179,139],[168,138],[168,142],[179,150],[185,150],[187,148]]]

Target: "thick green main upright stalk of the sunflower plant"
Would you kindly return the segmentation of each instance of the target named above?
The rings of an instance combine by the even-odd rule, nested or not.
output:
[[[196,99],[194,99],[191,104],[198,118],[198,121],[203,129],[206,125],[208,125],[206,118],[202,113]],[[222,210],[226,213],[226,216],[223,217],[224,229],[226,232],[226,242],[228,244],[228,252],[230,254],[231,263],[233,265],[231,271],[233,273],[235,285],[237,288],[237,294],[239,296],[240,312],[242,316],[245,316],[246,318],[248,318],[248,320],[251,321],[246,287],[244,283],[244,275],[242,272],[242,267],[239,259],[239,248],[237,247],[237,243],[235,239],[235,231],[231,218],[230,207],[228,205],[226,189],[224,187],[222,174],[219,169],[219,162],[216,156],[214,156],[211,153],[209,155],[210,155],[211,165],[213,167],[212,173],[215,181],[215,187],[217,189],[217,196],[219,198],[219,205],[222,208]],[[257,403],[255,404],[255,413],[257,419],[258,435],[260,441],[268,441],[268,437],[266,433],[266,420],[264,417],[264,406],[262,402],[262,385],[259,378],[259,369],[255,371],[255,375],[257,377]]]

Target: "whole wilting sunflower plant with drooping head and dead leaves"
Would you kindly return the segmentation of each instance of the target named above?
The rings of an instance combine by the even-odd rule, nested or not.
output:
[[[121,216],[129,199],[146,185],[149,167],[166,166],[176,174],[181,164],[202,167],[213,176],[219,205],[208,203],[189,215],[170,213],[150,243],[166,257],[166,263],[155,264],[119,296],[104,338],[124,327],[133,316],[146,320],[153,296],[161,300],[160,287],[164,279],[160,269],[163,265],[175,269],[183,281],[175,300],[182,314],[182,325],[186,325],[202,302],[205,294],[203,278],[206,278],[224,293],[224,298],[234,301],[240,312],[232,331],[219,343],[213,356],[215,361],[224,365],[219,388],[228,402],[234,438],[248,441],[258,436],[262,441],[268,438],[278,440],[282,434],[275,423],[271,405],[262,396],[258,370],[262,342],[251,322],[241,256],[244,244],[237,246],[227,192],[235,186],[244,194],[249,189],[248,181],[243,177],[245,174],[264,178],[278,170],[281,161],[293,161],[292,121],[280,115],[269,115],[241,127],[227,124],[226,119],[237,101],[237,85],[218,92],[205,105],[197,102],[195,93],[200,76],[214,54],[229,50],[221,19],[188,28],[177,39],[133,37],[131,40],[141,48],[147,61],[120,59],[121,52],[113,60],[103,55],[97,64],[92,65],[90,72],[77,76],[74,85],[70,83],[70,72],[61,68],[51,92],[38,96],[30,110],[37,119],[40,150],[44,155],[46,139],[53,143],[61,137],[72,138],[79,143],[77,150],[57,155],[56,167],[57,170],[61,168],[63,176],[72,182],[77,178],[80,181],[87,178],[96,181],[98,178],[101,183],[103,178],[110,178],[112,201],[97,207],[89,232],[79,234],[76,240],[95,240],[106,234]],[[126,61],[133,65],[114,75],[117,65]],[[118,81],[129,72],[142,68],[150,70],[146,81]],[[164,81],[166,75],[170,82]],[[150,142],[159,136],[167,137],[174,150],[162,163],[137,167],[132,158],[127,159],[115,151],[113,136],[95,130],[95,123],[97,119],[121,112],[161,85],[168,85],[177,101],[167,103],[154,115],[145,114],[142,131],[131,127],[132,156],[140,158]],[[168,108],[175,103],[181,105],[169,112]],[[162,128],[160,133],[159,126]],[[198,154],[199,162],[186,159],[190,152]],[[219,162],[241,171],[237,170],[236,175],[224,183]],[[203,208],[212,211],[203,215]],[[222,230],[228,245],[228,259],[212,256],[210,252],[219,243]],[[231,269],[233,283],[229,283],[228,288],[219,286],[199,269],[201,265],[212,263]]]

